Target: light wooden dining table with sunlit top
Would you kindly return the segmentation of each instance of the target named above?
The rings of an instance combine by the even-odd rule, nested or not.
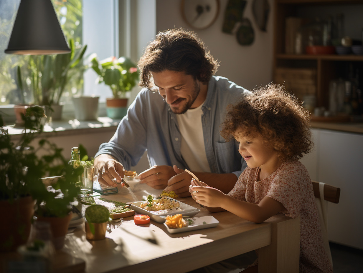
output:
[[[161,190],[146,185],[131,185],[136,197],[157,196]],[[131,202],[129,191],[103,198]],[[106,232],[106,239],[86,240],[83,226],[66,236],[65,247],[57,254],[58,269],[62,272],[151,272],[166,270],[182,273],[258,249],[259,272],[298,272],[300,219],[275,215],[263,223],[241,219],[228,211],[209,212],[191,197],[176,198],[180,202],[200,208],[193,216],[215,217],[216,227],[181,233],[169,233],[163,223],[153,220],[136,225],[133,216]],[[70,258],[71,257],[71,258]],[[78,265],[78,266],[77,266]]]

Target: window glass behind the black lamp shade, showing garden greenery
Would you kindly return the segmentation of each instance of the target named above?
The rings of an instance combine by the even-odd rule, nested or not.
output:
[[[57,1],[52,0],[62,30],[66,39],[73,38],[77,49],[82,47],[82,0]],[[0,1],[0,105],[30,103],[33,101],[32,80],[29,73],[29,65],[40,63],[43,55],[12,55],[5,54],[8,46],[12,26],[16,18],[16,12],[20,0]],[[17,67],[21,67],[23,79],[23,92],[19,88],[17,80]],[[77,69],[72,71],[72,78],[65,87],[61,101],[70,100],[73,94],[82,92],[83,69],[80,63]]]

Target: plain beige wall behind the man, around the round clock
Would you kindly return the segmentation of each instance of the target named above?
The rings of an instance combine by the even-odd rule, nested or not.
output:
[[[250,46],[241,46],[236,37],[222,32],[225,7],[228,0],[220,0],[220,12],[216,22],[207,29],[196,30],[199,38],[220,61],[217,75],[224,76],[247,89],[272,82],[273,61],[273,0],[269,0],[270,13],[267,32],[257,28],[252,14],[252,0],[247,0],[243,15],[252,23],[254,42]],[[172,28],[189,27],[181,17],[180,0],[156,1],[156,29],[158,31]]]

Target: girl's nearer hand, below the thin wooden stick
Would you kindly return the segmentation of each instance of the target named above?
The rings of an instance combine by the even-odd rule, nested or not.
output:
[[[190,190],[192,190],[192,197],[197,203],[211,208],[221,207],[223,198],[226,196],[220,190],[209,186],[200,187],[191,185],[191,187],[189,187],[189,191]]]

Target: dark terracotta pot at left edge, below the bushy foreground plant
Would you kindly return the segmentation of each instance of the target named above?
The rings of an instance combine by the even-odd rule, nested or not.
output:
[[[0,201],[0,251],[14,251],[28,240],[35,201],[32,197],[22,197],[10,203]]]

